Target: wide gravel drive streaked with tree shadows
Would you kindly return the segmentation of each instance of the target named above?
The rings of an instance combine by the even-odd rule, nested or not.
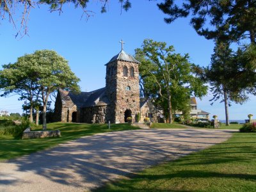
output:
[[[232,130],[144,129],[79,138],[0,163],[0,191],[90,191],[230,138]]]

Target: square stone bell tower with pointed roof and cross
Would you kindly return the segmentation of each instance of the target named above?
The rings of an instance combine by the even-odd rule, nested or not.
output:
[[[121,51],[106,64],[106,95],[109,99],[106,120],[111,123],[127,122],[140,113],[139,64],[131,55]]]

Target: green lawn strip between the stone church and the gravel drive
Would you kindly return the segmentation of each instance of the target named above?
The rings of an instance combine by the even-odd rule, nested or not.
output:
[[[81,136],[89,136],[99,132],[133,130],[138,129],[138,127],[133,127],[129,124],[111,124],[111,129],[108,129],[107,124],[52,123],[47,124],[47,129],[59,129],[61,131],[61,138],[15,140],[10,136],[2,136],[0,138],[0,161],[30,154],[31,152],[36,152],[44,148],[53,147],[59,143],[74,140]]]

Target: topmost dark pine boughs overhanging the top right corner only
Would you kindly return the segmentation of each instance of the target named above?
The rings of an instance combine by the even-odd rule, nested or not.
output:
[[[168,15],[167,23],[191,15],[191,25],[207,39],[239,42],[249,38],[256,43],[255,0],[164,0],[158,6]]]

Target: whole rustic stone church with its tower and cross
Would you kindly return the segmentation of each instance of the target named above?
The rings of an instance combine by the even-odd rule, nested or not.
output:
[[[79,94],[59,90],[54,115],[58,122],[106,123],[127,122],[143,112],[153,118],[152,110],[140,102],[139,61],[122,50],[106,63],[106,87]],[[156,113],[154,113],[156,115]],[[156,117],[155,117],[156,118]]]

